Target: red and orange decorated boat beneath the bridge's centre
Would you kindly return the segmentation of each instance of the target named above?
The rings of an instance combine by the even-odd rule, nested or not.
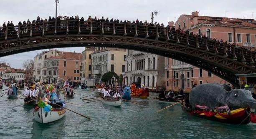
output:
[[[148,88],[138,89],[136,87],[131,87],[131,90],[131,97],[134,98],[147,99],[147,97],[150,96]]]

